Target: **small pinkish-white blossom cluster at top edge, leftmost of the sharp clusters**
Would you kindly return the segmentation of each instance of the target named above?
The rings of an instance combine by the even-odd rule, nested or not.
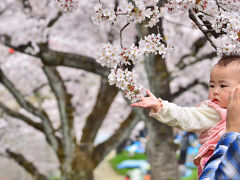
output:
[[[56,2],[58,9],[64,12],[71,12],[78,6],[78,0],[56,0]]]

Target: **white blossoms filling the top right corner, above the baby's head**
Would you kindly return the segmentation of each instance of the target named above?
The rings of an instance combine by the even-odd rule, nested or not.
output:
[[[232,0],[169,0],[166,8],[170,13],[193,10],[203,20],[211,23],[217,33],[224,32],[220,38],[218,54],[230,55],[240,53],[240,1]]]

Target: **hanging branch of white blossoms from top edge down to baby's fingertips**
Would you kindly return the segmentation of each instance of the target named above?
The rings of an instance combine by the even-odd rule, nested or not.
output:
[[[146,94],[146,90],[136,81],[135,72],[130,70],[132,65],[137,63],[139,59],[145,54],[160,54],[165,56],[171,47],[167,47],[166,42],[160,34],[151,34],[144,39],[141,39],[137,44],[131,44],[130,47],[124,47],[122,43],[122,32],[130,23],[141,23],[144,20],[148,20],[146,26],[153,27],[159,22],[160,9],[156,6],[157,2],[142,1],[129,2],[126,7],[119,8],[118,11],[114,11],[110,8],[102,8],[99,4],[95,9],[95,16],[92,20],[95,24],[99,24],[102,20],[108,20],[114,24],[117,23],[119,14],[124,14],[128,17],[127,24],[120,30],[120,48],[110,43],[104,43],[99,48],[99,55],[97,56],[97,62],[102,66],[111,68],[111,73],[108,76],[109,84],[114,85],[124,90],[124,95],[131,99],[132,102],[138,101],[142,96]]]

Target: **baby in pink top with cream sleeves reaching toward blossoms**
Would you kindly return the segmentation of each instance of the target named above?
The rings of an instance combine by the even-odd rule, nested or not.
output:
[[[149,90],[148,97],[131,104],[150,108],[149,115],[182,131],[198,132],[201,147],[193,162],[201,175],[205,163],[226,129],[226,108],[230,91],[240,84],[240,56],[225,56],[213,67],[209,81],[208,100],[198,107],[180,107],[157,99]]]

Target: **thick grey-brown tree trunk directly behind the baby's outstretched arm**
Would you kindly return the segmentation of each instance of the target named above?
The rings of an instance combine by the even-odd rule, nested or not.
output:
[[[149,55],[145,59],[145,65],[151,91],[156,97],[170,101],[172,97],[165,60],[161,56]],[[173,129],[152,118],[149,118],[146,124],[149,134],[147,155],[152,180],[179,179]]]

